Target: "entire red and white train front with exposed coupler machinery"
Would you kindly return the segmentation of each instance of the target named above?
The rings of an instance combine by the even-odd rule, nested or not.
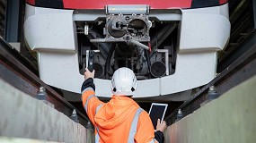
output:
[[[40,79],[64,95],[80,93],[92,60],[98,97],[110,97],[113,72],[128,67],[138,80],[134,97],[186,100],[215,78],[230,35],[227,0],[26,3],[24,37],[38,53]]]

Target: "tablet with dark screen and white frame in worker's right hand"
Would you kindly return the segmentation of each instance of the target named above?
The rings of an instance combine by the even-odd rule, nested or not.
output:
[[[154,126],[154,130],[156,130],[157,125],[157,119],[160,119],[161,122],[163,122],[163,117],[167,109],[167,104],[158,104],[158,103],[152,103],[150,110],[149,110],[149,116],[151,118],[151,121]]]

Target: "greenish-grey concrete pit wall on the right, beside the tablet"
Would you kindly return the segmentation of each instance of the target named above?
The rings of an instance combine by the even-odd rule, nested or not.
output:
[[[256,76],[165,131],[167,143],[255,143]]]

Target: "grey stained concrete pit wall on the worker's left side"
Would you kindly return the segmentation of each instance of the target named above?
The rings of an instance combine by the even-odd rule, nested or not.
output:
[[[0,137],[92,142],[90,139],[93,139],[93,134],[90,130],[42,101],[13,88],[2,79],[0,97]]]

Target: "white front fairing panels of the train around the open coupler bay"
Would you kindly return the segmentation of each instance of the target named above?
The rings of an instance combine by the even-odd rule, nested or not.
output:
[[[168,56],[168,50],[170,50],[168,46],[156,47],[154,49],[156,53],[150,57],[152,58],[150,60],[152,63],[154,63],[153,59],[163,62],[166,71],[163,75],[154,78],[138,80],[134,97],[163,95],[172,97],[172,94],[190,91],[192,88],[207,84],[216,77],[217,52],[225,48],[230,35],[228,4],[195,9],[172,8],[170,12],[166,12],[150,9],[146,16],[149,20],[156,19],[159,24],[165,21],[178,23],[176,46],[174,47],[175,56],[172,55],[175,57],[175,64],[173,66],[169,63],[172,61],[170,56],[169,59],[164,56],[166,49]],[[95,13],[93,11],[76,13],[75,10],[44,8],[26,4],[24,36],[31,50],[38,53],[41,80],[50,86],[69,92],[81,92],[84,75],[81,73],[81,63],[79,63],[79,58],[81,58],[79,54],[81,49],[79,48],[81,47],[78,46],[77,34],[79,33],[77,33],[76,21],[90,23],[98,21],[99,18],[106,18],[104,10],[95,11]],[[100,22],[98,21],[98,23]],[[150,22],[154,24],[154,20]],[[150,28],[151,25],[148,27]],[[85,28],[82,31],[86,32],[87,30]],[[151,39],[153,39],[152,36]],[[163,55],[159,60],[156,56],[161,52]],[[113,57],[111,59],[115,60]],[[102,60],[102,57],[98,60]],[[97,62],[97,58],[94,61]],[[102,66],[104,66],[103,64],[105,63],[102,63]],[[114,64],[111,66],[114,67]],[[133,65],[134,63],[129,64]],[[143,66],[147,66],[147,64],[145,63]],[[143,70],[138,71],[138,73],[141,72]],[[94,83],[98,97],[112,96],[110,78],[95,78]]]

